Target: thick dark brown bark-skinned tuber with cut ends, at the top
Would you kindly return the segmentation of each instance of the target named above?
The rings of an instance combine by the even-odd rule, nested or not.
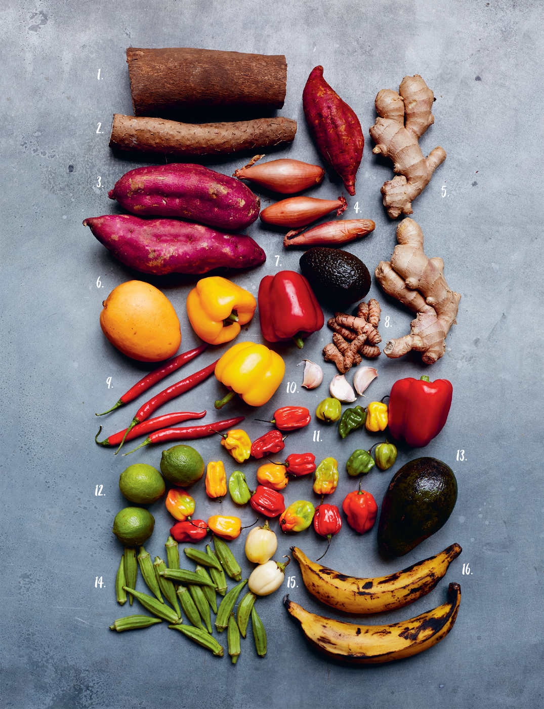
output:
[[[283,108],[285,101],[284,55],[129,47],[127,63],[136,116],[207,106],[261,108],[266,113]]]

